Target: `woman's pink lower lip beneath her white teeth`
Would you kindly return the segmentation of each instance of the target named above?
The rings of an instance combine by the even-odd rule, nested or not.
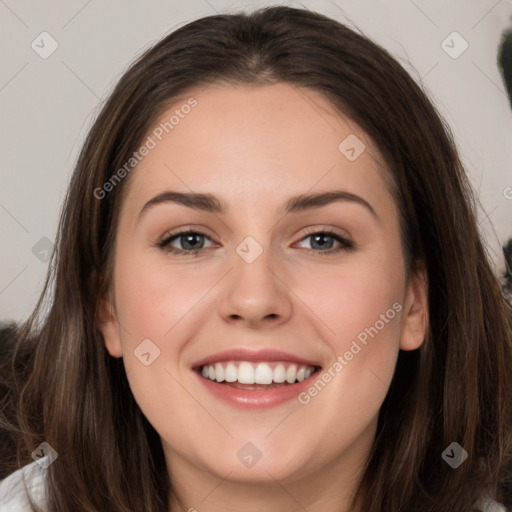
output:
[[[278,388],[269,389],[240,389],[226,386],[210,379],[205,379],[198,372],[194,372],[203,386],[214,396],[228,404],[241,409],[263,409],[275,407],[289,400],[297,399],[300,393],[305,391],[316,378],[318,371],[308,379],[295,384],[289,384]]]

